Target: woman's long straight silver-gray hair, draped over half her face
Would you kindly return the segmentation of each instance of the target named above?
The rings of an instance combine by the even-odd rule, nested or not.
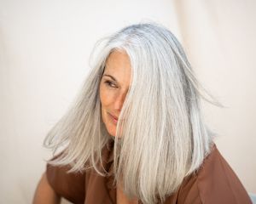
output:
[[[102,42],[78,98],[44,141],[54,151],[65,147],[50,163],[106,174],[98,164],[111,137],[102,122],[99,84],[109,54],[125,52],[131,87],[114,139],[114,175],[129,197],[148,204],[165,201],[211,149],[213,134],[203,122],[200,99],[218,102],[196,80],[182,46],[165,27],[127,26]]]

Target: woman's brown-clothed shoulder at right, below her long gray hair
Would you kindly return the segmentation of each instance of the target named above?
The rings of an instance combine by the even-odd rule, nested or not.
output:
[[[184,178],[176,193],[165,204],[227,204],[252,203],[236,173],[216,145],[196,173]]]

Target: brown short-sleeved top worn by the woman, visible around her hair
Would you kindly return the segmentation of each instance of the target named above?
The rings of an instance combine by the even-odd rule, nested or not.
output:
[[[111,171],[113,147],[103,149],[104,166]],[[55,192],[73,203],[115,204],[113,176],[102,177],[94,170],[67,173],[69,167],[47,165],[47,178]],[[141,203],[141,202],[139,202]],[[214,145],[197,173],[191,174],[164,204],[247,204],[252,203],[247,191]]]

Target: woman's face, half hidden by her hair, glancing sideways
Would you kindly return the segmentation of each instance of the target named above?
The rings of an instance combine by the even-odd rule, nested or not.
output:
[[[108,133],[116,134],[119,114],[131,81],[131,64],[125,52],[114,51],[108,56],[100,83],[102,121]]]

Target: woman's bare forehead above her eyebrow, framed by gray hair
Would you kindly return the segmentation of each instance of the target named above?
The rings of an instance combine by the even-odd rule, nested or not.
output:
[[[104,74],[113,76],[118,82],[130,83],[131,62],[128,54],[124,51],[113,51],[109,54]]]

